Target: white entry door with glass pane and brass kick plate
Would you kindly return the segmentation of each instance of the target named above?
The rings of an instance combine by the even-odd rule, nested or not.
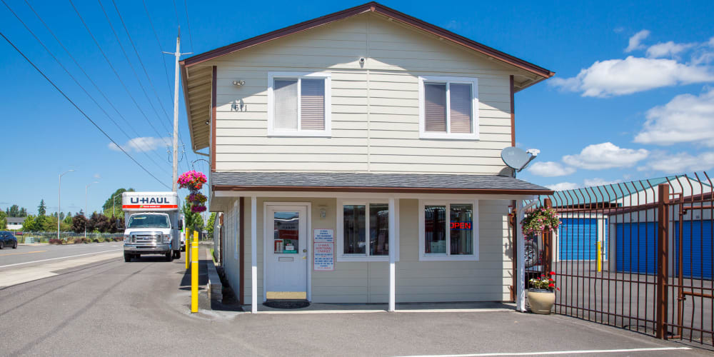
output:
[[[307,298],[306,206],[267,206],[266,298]]]

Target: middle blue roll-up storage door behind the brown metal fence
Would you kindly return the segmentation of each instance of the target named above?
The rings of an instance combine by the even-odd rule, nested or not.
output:
[[[657,223],[615,224],[617,271],[657,273]]]

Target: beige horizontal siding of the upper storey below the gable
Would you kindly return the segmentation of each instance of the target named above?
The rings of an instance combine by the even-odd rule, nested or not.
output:
[[[360,57],[366,62],[361,66]],[[516,69],[376,14],[208,61],[217,73],[218,171],[498,174]],[[267,136],[268,72],[331,74],[331,136]],[[480,140],[419,139],[419,76],[478,78]],[[234,80],[244,80],[241,87]],[[415,158],[423,157],[423,160]]]

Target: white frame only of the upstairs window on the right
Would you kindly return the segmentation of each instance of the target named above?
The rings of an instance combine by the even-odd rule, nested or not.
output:
[[[446,84],[446,133],[426,131],[424,82]],[[451,133],[449,84],[471,84],[471,133]],[[419,76],[419,139],[478,140],[478,78]]]

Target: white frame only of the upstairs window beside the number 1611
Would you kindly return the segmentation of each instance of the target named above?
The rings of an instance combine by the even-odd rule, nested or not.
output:
[[[268,136],[332,136],[332,83],[331,74],[326,72],[268,72]],[[300,129],[300,98],[302,78],[325,79],[325,129],[324,130],[303,130]],[[273,117],[275,115],[275,102],[273,97],[273,85],[275,79],[298,79],[298,129],[297,130],[276,130],[273,128]]]

